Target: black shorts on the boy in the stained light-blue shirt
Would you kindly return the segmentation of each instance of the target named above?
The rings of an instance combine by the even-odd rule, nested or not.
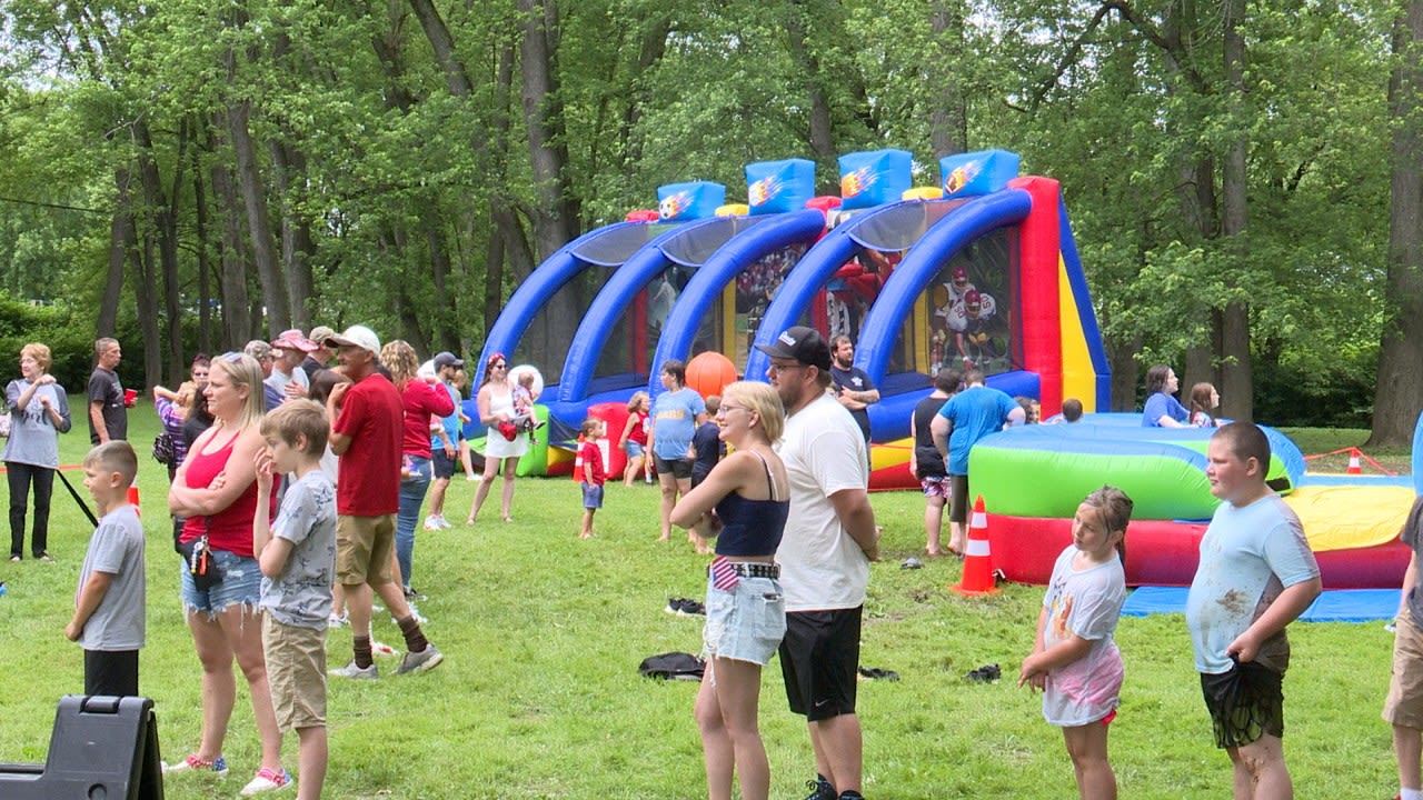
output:
[[[1237,662],[1229,672],[1201,675],[1201,695],[1211,712],[1217,747],[1239,747],[1266,733],[1285,736],[1284,673],[1255,662]]]

